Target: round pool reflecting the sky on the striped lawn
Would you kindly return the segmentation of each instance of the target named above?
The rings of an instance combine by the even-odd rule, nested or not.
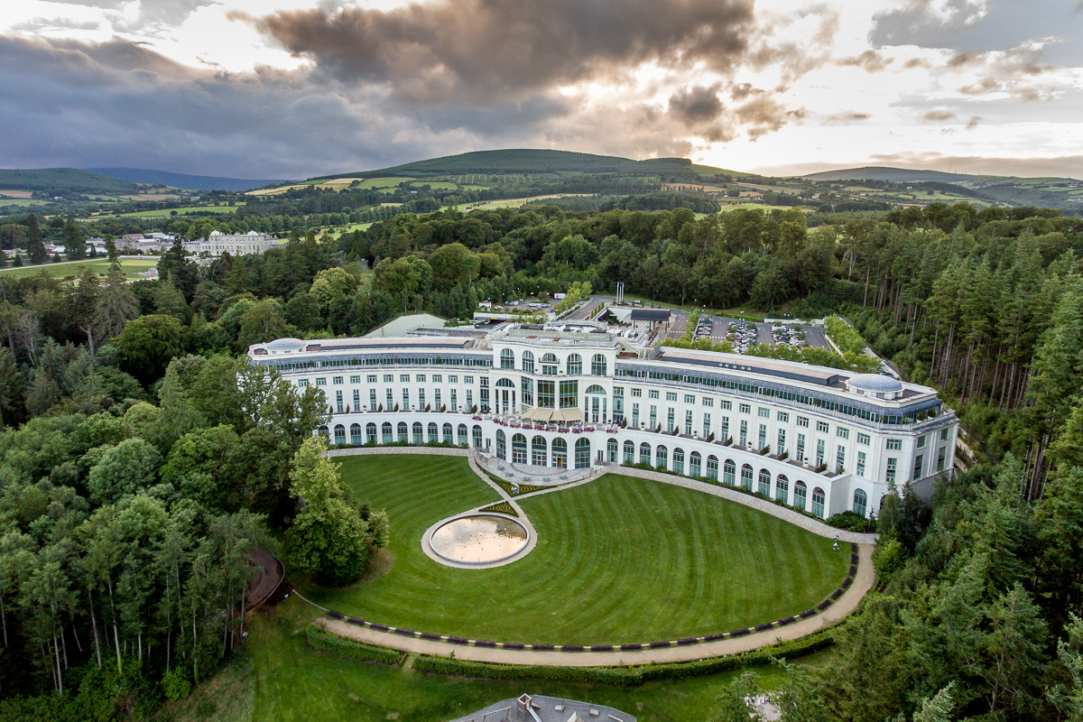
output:
[[[436,556],[456,566],[486,566],[519,554],[530,534],[511,516],[479,513],[444,522],[428,541]]]

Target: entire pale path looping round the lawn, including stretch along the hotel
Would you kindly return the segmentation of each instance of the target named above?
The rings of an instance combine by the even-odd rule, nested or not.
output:
[[[852,583],[846,589],[846,593],[841,594],[837,600],[832,602],[826,608],[819,612],[813,616],[797,619],[796,621],[785,625],[775,626],[764,631],[752,631],[747,634],[740,635],[727,635],[725,639],[713,640],[709,642],[699,642],[695,644],[678,644],[676,642],[666,645],[657,646],[652,645],[650,647],[640,649],[614,649],[614,651],[584,651],[584,652],[572,652],[572,651],[554,651],[554,649],[518,649],[518,648],[507,648],[507,647],[494,647],[494,646],[474,646],[472,643],[468,644],[456,644],[442,640],[434,639],[419,639],[415,635],[415,632],[406,632],[405,630],[395,632],[394,628],[390,628],[387,631],[380,629],[373,629],[367,626],[360,623],[354,623],[348,621],[347,619],[340,618],[341,615],[335,614],[334,616],[328,615],[321,617],[316,621],[324,626],[324,628],[339,636],[345,639],[351,639],[364,644],[375,644],[378,646],[390,647],[393,649],[401,649],[403,652],[410,652],[416,654],[426,655],[438,655],[438,656],[448,656],[454,653],[455,657],[458,659],[469,659],[471,661],[485,661],[485,662],[498,662],[498,664],[510,664],[510,665],[551,665],[558,667],[608,667],[615,665],[645,665],[651,662],[673,662],[673,661],[692,661],[695,659],[703,659],[706,657],[719,657],[725,655],[740,654],[742,652],[748,652],[749,649],[756,649],[761,646],[769,644],[774,644],[777,642],[785,642],[788,640],[796,640],[801,636],[806,636],[813,632],[818,632],[827,627],[832,627],[838,623],[844,617],[853,612],[864,595],[873,589],[876,585],[876,574],[873,570],[872,565],[872,553],[874,549],[874,542],[876,540],[875,534],[856,534],[852,531],[844,531],[841,529],[836,529],[834,527],[827,526],[822,522],[814,518],[799,514],[796,511],[786,509],[785,507],[780,507],[778,504],[771,503],[758,497],[753,497],[727,487],[715,486],[713,484],[706,484],[704,482],[697,482],[691,478],[684,478],[680,476],[675,476],[671,474],[663,474],[661,472],[644,471],[640,469],[632,469],[628,467],[602,467],[600,473],[591,476],[590,478],[582,480],[578,482],[573,482],[563,486],[558,486],[549,489],[542,489],[538,491],[532,491],[530,494],[522,494],[518,497],[511,497],[507,491],[496,484],[487,474],[479,469],[477,462],[474,461],[474,455],[467,449],[449,449],[449,448],[429,448],[429,447],[386,447],[386,448],[349,448],[349,449],[331,449],[327,452],[328,457],[338,456],[366,456],[374,454],[432,454],[439,456],[462,456],[467,457],[470,468],[482,478],[486,484],[488,484],[500,498],[508,502],[516,513],[520,515],[521,520],[526,520],[525,513],[523,513],[522,508],[516,502],[516,499],[522,499],[526,497],[537,496],[540,494],[552,494],[554,491],[560,491],[561,489],[570,488],[572,486],[579,486],[582,484],[589,484],[598,476],[605,473],[617,473],[626,474],[628,476],[639,476],[641,478],[648,478],[651,481],[658,481],[666,484],[674,484],[675,486],[681,486],[689,489],[694,489],[697,491],[704,491],[713,496],[721,497],[742,503],[746,507],[752,507],[765,513],[777,516],[792,524],[796,524],[804,529],[812,531],[822,537],[835,538],[837,537],[839,541],[852,542],[858,546],[858,560],[857,574],[853,575]],[[456,514],[459,516],[461,514]],[[526,521],[529,524],[529,520]],[[535,536],[532,529],[532,538]],[[329,609],[319,606],[318,604],[306,600],[300,593],[295,590],[300,599],[308,602],[312,606],[315,606],[324,612],[330,612]]]

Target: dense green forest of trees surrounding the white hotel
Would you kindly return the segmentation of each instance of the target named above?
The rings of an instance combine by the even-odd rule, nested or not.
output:
[[[169,223],[276,218],[302,216]],[[249,344],[617,280],[690,306],[846,316],[969,433],[971,471],[931,502],[889,498],[884,587],[830,669],[794,672],[785,719],[1081,719],[1083,221],[935,204],[818,222],[445,209],[323,241],[292,226],[280,248],[203,266],[178,244],[158,281],[126,283],[115,253],[76,284],[0,274],[0,719],[91,704],[139,719],[229,656],[253,549],[341,583],[387,538],[311,437],[325,399],[253,371]],[[29,250],[66,225],[16,219],[0,242]],[[331,527],[352,541],[319,553]]]

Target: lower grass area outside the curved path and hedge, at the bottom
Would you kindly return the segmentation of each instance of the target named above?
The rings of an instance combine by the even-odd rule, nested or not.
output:
[[[467,680],[342,659],[314,652],[304,628],[316,611],[296,596],[271,612],[257,612],[248,648],[181,704],[167,705],[155,722],[446,722],[524,692],[609,705],[640,722],[707,720],[719,691],[739,673],[650,682],[622,688],[532,680]],[[803,657],[819,666],[832,652]],[[778,685],[775,667],[756,671],[766,688]]]

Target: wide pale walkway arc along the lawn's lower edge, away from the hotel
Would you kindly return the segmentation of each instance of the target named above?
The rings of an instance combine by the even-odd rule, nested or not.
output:
[[[422,640],[415,636],[403,636],[393,631],[380,631],[360,627],[344,619],[321,617],[317,619],[327,631],[339,636],[355,640],[364,644],[391,647],[416,654],[448,656],[453,652],[456,659],[472,661],[488,661],[508,665],[552,665],[557,667],[611,667],[615,665],[647,665],[651,662],[692,661],[705,657],[720,657],[740,654],[761,646],[785,642],[806,636],[821,629],[838,623],[853,612],[862,598],[876,583],[876,575],[872,565],[873,547],[860,546],[858,556],[858,574],[853,583],[838,601],[826,609],[806,619],[799,619],[784,627],[773,627],[762,632],[753,632],[741,636],[730,636],[713,642],[687,644],[647,649],[618,649],[613,652],[556,652],[547,649],[507,649],[496,647],[477,647],[472,645],[452,644],[435,640]],[[841,553],[845,553],[841,552]],[[295,590],[295,593],[296,590]],[[301,599],[304,599],[303,596]]]

